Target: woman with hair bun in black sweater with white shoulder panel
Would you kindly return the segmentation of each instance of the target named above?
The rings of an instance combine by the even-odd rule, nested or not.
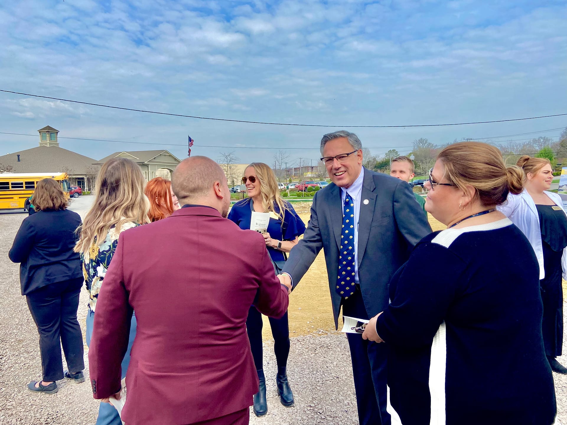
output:
[[[522,178],[485,143],[439,154],[425,209],[447,230],[416,245],[390,282],[391,304],[363,334],[390,348],[392,424],[554,422],[538,262],[495,210]]]

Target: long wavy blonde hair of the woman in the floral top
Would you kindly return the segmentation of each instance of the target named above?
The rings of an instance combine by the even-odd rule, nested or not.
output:
[[[74,251],[86,253],[92,244],[102,244],[114,226],[120,232],[127,222],[148,223],[150,203],[143,193],[142,170],[130,159],[112,158],[96,177],[95,202],[77,229],[81,237]]]

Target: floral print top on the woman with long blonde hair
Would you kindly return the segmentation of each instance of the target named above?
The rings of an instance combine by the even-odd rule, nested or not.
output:
[[[138,223],[126,222],[120,230],[116,227],[108,231],[106,239],[100,245],[96,243],[96,237],[91,248],[86,254],[81,254],[81,261],[83,263],[84,282],[87,286],[87,291],[90,294],[88,307],[95,311],[96,300],[99,297],[100,287],[103,284],[104,275],[110,265],[110,261],[114,256],[116,245],[118,245],[118,237],[121,232],[131,229],[132,227],[139,226]]]

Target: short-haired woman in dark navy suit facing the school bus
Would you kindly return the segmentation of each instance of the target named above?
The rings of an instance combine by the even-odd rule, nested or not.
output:
[[[83,335],[77,320],[83,284],[81,259],[73,252],[81,217],[67,210],[61,186],[53,179],[37,183],[33,194],[37,214],[25,218],[9,252],[20,264],[22,295],[40,335],[43,380],[31,381],[32,392],[53,394],[55,381],[83,382]],[[69,371],[63,371],[61,344]]]

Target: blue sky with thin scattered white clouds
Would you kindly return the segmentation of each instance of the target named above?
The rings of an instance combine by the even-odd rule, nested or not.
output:
[[[324,125],[489,121],[567,112],[567,2],[436,0],[19,1],[0,4],[0,88],[136,109]],[[325,128],[194,120],[0,93],[0,131],[187,143],[273,163],[319,158]],[[353,129],[373,154],[541,131],[567,117]],[[336,128],[337,130],[340,127]],[[515,138],[527,138],[531,135]],[[514,139],[514,138],[513,138]],[[494,139],[500,140],[500,139]],[[0,134],[0,154],[37,146]],[[255,147],[208,148],[201,145]],[[183,146],[61,139],[95,159]]]

